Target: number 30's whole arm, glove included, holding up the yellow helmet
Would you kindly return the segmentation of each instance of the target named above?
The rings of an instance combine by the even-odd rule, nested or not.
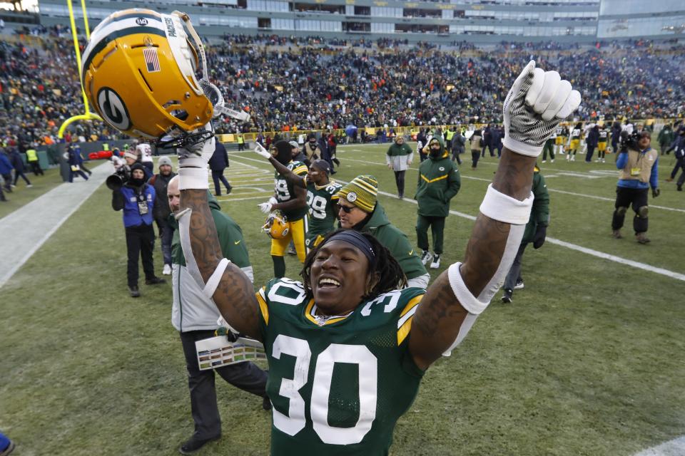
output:
[[[188,272],[203,287],[205,296],[214,300],[225,321],[241,333],[260,339],[260,310],[252,282],[223,257],[209,209],[207,162],[213,150],[213,139],[179,150],[181,212],[176,218],[181,246]]]

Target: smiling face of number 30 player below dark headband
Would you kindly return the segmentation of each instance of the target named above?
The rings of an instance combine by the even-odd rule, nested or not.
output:
[[[369,261],[345,241],[321,247],[310,269],[314,302],[321,314],[342,315],[355,309],[368,286]]]

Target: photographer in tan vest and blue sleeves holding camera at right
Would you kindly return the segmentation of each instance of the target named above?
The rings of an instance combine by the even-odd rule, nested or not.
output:
[[[616,210],[612,219],[612,235],[621,239],[621,227],[628,207],[632,204],[635,211],[633,229],[635,239],[640,244],[649,242],[647,232],[647,198],[651,186],[651,196],[659,196],[659,153],[649,147],[649,131],[629,135],[621,133],[621,149],[616,160],[616,167],[621,170],[616,187]]]

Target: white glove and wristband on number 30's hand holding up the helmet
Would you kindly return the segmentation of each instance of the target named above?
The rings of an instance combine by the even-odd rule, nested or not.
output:
[[[176,149],[178,154],[178,190],[207,190],[209,188],[207,164],[214,154],[216,144],[211,123],[206,124],[203,130],[211,132],[212,136],[197,144]],[[193,133],[197,133],[197,131]]]

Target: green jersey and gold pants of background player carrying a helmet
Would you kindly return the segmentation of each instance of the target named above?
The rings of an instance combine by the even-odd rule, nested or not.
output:
[[[307,175],[307,166],[303,162],[288,163],[288,170],[294,172],[298,176],[304,177]],[[285,177],[278,174],[278,171],[274,173],[273,188],[278,202],[286,202],[295,198],[293,184],[290,184]],[[284,257],[285,251],[288,249],[288,244],[290,244],[290,240],[292,239],[293,244],[295,244],[295,250],[298,252],[298,259],[300,261],[305,261],[307,255],[307,249],[305,247],[305,236],[307,235],[308,228],[308,220],[306,217],[307,210],[307,205],[305,204],[305,206],[298,209],[281,211],[288,220],[288,235],[283,239],[271,239],[272,256]]]

